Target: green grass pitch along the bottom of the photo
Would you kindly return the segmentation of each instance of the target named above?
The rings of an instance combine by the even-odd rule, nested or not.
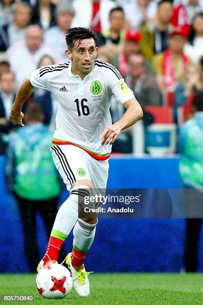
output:
[[[32,295],[33,302],[1,304],[203,304],[203,274],[93,274],[91,294],[79,297],[75,290],[63,300],[46,300],[37,292],[35,274],[1,274],[0,295]]]

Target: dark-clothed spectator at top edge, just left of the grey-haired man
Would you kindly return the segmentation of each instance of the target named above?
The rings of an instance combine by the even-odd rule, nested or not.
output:
[[[51,0],[39,0],[32,8],[31,23],[39,24],[43,30],[55,25],[55,8]]]

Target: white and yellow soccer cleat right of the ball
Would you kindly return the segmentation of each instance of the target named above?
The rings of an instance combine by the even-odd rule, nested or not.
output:
[[[88,276],[92,272],[87,272],[85,270],[84,265],[83,265],[83,269],[76,271],[73,268],[72,263],[71,263],[71,255],[72,255],[72,253],[69,253],[67,255],[66,264],[68,265],[68,267],[72,273],[73,286],[74,286],[75,290],[77,291],[77,293],[79,294],[79,296],[88,297],[90,294],[90,283],[88,280]]]

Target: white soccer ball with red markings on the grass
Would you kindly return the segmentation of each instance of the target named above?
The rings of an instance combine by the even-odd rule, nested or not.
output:
[[[37,274],[36,286],[45,299],[63,299],[70,293],[73,279],[66,267],[59,264],[47,265]]]

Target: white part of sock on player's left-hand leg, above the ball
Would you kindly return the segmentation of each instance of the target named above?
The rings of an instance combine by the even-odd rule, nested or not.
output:
[[[73,187],[73,189],[71,189],[70,196],[60,206],[60,208],[58,210],[52,232],[57,230],[57,231],[63,233],[64,235],[66,235],[66,237],[68,237],[68,235],[70,234],[71,230],[73,229],[73,227],[78,219],[77,190],[81,189],[81,188],[90,190],[85,185],[75,186],[75,187]],[[55,236],[55,237],[57,237],[57,236]]]

